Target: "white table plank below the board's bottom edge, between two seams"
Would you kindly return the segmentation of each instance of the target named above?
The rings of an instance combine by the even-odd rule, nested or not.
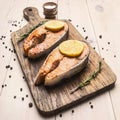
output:
[[[110,107],[109,99],[108,99],[108,93],[104,93],[104,100],[103,100],[103,94],[95,97],[94,99],[89,99],[87,101],[84,101],[80,105],[76,105],[69,110],[60,112],[60,114],[57,115],[57,120],[114,120],[114,116],[112,111],[112,107]],[[100,101],[100,102],[99,102]],[[98,110],[98,108],[100,109]],[[107,108],[110,108],[106,111]],[[112,114],[110,114],[112,113]]]

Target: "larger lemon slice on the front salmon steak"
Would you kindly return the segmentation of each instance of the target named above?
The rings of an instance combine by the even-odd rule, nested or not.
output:
[[[79,56],[83,49],[83,43],[78,40],[67,40],[59,45],[60,52],[68,57]]]

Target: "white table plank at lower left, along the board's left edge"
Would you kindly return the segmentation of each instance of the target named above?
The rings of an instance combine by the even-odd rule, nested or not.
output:
[[[14,61],[14,59],[16,60]],[[7,72],[6,80],[4,82],[5,86],[0,96],[1,119],[7,120],[9,117],[12,120],[54,120],[54,116],[44,118],[36,109],[15,54],[11,58],[10,66],[13,69],[9,69]],[[30,103],[32,103],[32,107],[29,107]],[[10,115],[12,116],[10,117]],[[22,118],[20,117],[21,115]]]

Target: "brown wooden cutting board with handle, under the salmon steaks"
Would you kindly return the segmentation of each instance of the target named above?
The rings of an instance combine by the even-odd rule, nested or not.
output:
[[[56,114],[65,108],[80,103],[81,101],[114,86],[116,81],[115,74],[92,47],[90,47],[91,53],[89,62],[82,72],[66,79],[64,83],[52,88],[47,88],[43,85],[35,86],[34,77],[47,55],[44,55],[37,60],[30,60],[27,57],[24,57],[23,40],[20,41],[20,38],[23,34],[33,28],[33,26],[44,21],[44,19],[40,18],[38,10],[33,7],[24,9],[23,13],[29,23],[22,29],[13,32],[11,34],[11,38],[34,102],[40,113],[43,115]],[[69,26],[68,39],[85,40],[69,21],[65,22],[67,22]],[[77,90],[74,94],[70,94],[71,89],[76,87],[81,81],[86,79],[91,73],[93,73],[93,71],[96,70],[99,61],[102,61],[101,73],[98,74],[98,76],[93,79],[89,85]]]

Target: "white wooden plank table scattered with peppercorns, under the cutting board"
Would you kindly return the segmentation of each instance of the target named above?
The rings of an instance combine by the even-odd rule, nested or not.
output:
[[[48,0],[0,0],[0,120],[120,120],[120,0],[52,0],[58,18],[69,19],[117,76],[115,87],[58,115],[37,111],[10,40],[27,24],[23,9]],[[29,103],[33,106],[30,107]]]

